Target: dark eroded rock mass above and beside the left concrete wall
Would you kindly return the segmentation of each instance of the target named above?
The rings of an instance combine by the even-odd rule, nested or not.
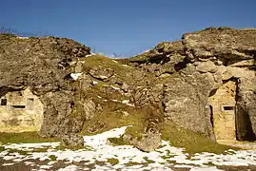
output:
[[[69,118],[75,90],[65,78],[73,70],[70,63],[87,54],[89,47],[69,39],[0,34],[0,96],[30,87],[44,105],[42,136],[77,132],[83,121]]]

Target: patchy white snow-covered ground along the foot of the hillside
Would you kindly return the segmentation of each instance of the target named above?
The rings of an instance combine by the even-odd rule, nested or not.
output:
[[[3,145],[5,150],[0,153],[0,159],[5,167],[24,161],[31,167],[37,165],[41,171],[52,170],[53,165],[60,161],[65,163],[63,168],[58,169],[60,171],[174,170],[178,167],[190,170],[218,170],[218,165],[256,165],[254,150],[228,150],[226,155],[206,152],[188,158],[189,155],[184,149],[171,146],[166,141],[162,141],[161,148],[150,153],[142,152],[131,145],[113,146],[108,143],[108,138],[120,137],[126,128],[127,126],[124,126],[102,134],[85,136],[87,148],[75,151],[60,150],[60,142],[6,144]],[[37,162],[33,162],[34,160]],[[42,161],[42,164],[38,161]]]

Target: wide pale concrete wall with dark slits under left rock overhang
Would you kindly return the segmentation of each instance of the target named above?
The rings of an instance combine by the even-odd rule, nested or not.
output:
[[[0,132],[38,131],[43,123],[44,105],[29,88],[12,91],[1,97],[7,100],[0,105]]]

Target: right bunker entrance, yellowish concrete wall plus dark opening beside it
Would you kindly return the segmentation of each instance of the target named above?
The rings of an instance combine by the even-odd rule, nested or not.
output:
[[[226,81],[208,99],[210,123],[217,141],[255,141],[246,113],[237,107],[237,80]]]

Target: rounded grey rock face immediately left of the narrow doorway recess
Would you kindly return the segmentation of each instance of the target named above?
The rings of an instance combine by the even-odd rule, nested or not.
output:
[[[210,91],[222,83],[210,73],[200,74],[195,68],[172,78],[164,87],[165,117],[184,128],[201,132],[214,140],[210,111],[207,107]]]

